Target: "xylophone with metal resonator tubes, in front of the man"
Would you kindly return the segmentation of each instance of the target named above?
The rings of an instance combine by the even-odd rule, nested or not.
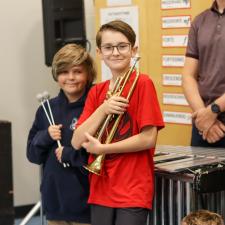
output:
[[[157,146],[154,225],[180,225],[191,211],[208,209],[225,218],[225,149]]]

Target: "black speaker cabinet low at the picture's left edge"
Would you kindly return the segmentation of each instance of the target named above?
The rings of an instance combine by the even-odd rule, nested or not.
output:
[[[14,224],[11,123],[0,121],[0,225]]]

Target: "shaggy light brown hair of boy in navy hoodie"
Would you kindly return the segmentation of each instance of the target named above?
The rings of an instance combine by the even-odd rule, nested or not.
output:
[[[88,73],[88,86],[96,78],[96,70],[92,57],[80,45],[67,44],[62,47],[55,55],[52,61],[52,75],[55,81],[64,70],[73,66],[84,65]]]

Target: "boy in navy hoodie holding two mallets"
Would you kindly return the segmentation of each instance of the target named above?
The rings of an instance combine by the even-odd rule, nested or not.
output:
[[[48,225],[89,224],[89,183],[83,169],[87,153],[75,151],[71,138],[96,71],[83,47],[68,44],[55,54],[52,74],[60,87],[58,96],[50,99],[56,125],[49,125],[39,107],[28,136],[27,158],[43,165],[41,194]]]

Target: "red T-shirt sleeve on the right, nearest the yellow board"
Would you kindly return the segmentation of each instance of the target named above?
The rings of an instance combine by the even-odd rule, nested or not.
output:
[[[137,120],[139,132],[145,126],[164,127],[155,87],[149,78],[141,80],[139,85]]]

